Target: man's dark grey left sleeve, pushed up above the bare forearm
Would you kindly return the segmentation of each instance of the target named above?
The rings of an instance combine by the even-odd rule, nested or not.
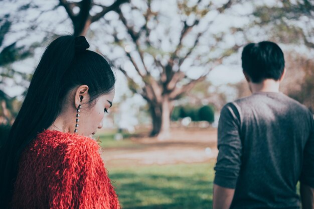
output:
[[[226,104],[218,124],[218,157],[214,183],[235,188],[241,166],[242,144],[240,139],[240,115],[233,103]]]

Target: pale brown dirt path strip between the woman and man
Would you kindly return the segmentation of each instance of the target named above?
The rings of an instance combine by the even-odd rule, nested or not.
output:
[[[106,166],[206,162],[217,157],[217,129],[175,129],[168,140],[131,138],[134,146],[103,148]]]

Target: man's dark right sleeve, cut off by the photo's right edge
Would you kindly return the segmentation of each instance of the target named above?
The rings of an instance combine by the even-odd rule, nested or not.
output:
[[[314,121],[310,113],[310,134],[304,147],[300,182],[314,188]]]

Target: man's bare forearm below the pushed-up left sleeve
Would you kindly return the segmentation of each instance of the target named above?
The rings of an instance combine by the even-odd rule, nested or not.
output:
[[[214,184],[213,209],[229,209],[234,190],[233,188],[226,188]]]

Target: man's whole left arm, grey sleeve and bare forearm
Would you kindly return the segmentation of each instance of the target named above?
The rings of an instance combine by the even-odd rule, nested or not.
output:
[[[234,104],[226,104],[218,124],[218,156],[215,166],[213,208],[229,209],[241,166],[240,115]]]

